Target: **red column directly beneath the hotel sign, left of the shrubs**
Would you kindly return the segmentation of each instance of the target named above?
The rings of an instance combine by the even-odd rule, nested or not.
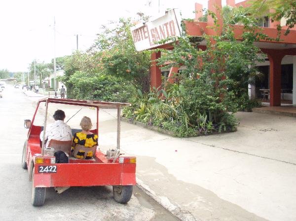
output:
[[[160,90],[161,87],[161,71],[159,66],[157,65],[156,59],[160,58],[160,51],[151,53],[151,66],[150,66],[150,87],[158,88]]]

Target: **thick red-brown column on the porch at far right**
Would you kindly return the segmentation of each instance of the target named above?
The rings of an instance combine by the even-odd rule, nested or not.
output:
[[[267,54],[269,59],[270,106],[281,106],[281,63],[284,57],[278,51]]]

